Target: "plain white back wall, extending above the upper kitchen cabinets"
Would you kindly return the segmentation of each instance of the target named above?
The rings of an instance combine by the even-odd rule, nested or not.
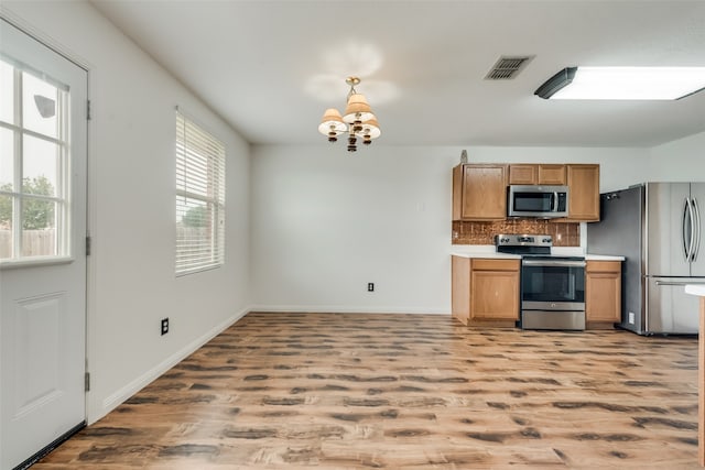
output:
[[[462,147],[380,143],[357,154],[340,142],[253,147],[257,308],[451,311],[451,170]],[[643,181],[650,159],[644,149],[467,150],[476,163],[599,163],[603,190]]]

